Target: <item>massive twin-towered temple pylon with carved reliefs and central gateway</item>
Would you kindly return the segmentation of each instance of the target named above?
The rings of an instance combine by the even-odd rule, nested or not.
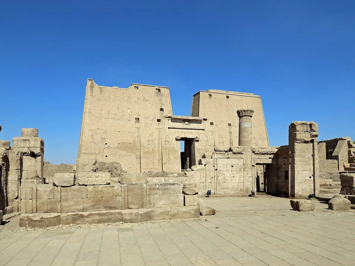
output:
[[[200,91],[191,115],[173,116],[169,88],[104,87],[88,79],[78,158],[121,163],[128,173],[181,171],[180,141],[189,142],[189,167],[216,146],[237,146],[237,110],[254,109],[251,143],[268,146],[261,98],[251,93]]]

